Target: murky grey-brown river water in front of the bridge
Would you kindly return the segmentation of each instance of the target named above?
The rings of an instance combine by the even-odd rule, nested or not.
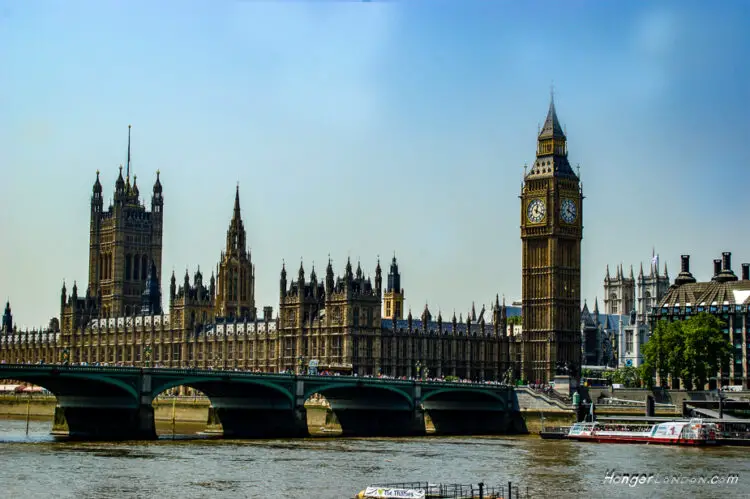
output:
[[[750,459],[741,447],[612,445],[523,437],[222,440],[177,435],[158,441],[67,442],[49,421],[0,419],[4,497],[351,498],[376,482],[507,484],[532,497],[748,497]],[[726,476],[736,484],[605,485],[608,470]]]

